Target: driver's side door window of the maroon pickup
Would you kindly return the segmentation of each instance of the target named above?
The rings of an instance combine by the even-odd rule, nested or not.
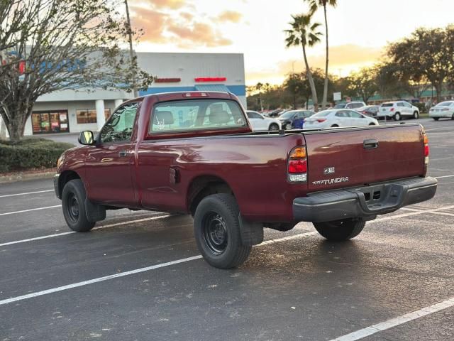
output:
[[[130,103],[119,107],[106,122],[101,131],[101,142],[131,141],[135,114],[139,103]]]

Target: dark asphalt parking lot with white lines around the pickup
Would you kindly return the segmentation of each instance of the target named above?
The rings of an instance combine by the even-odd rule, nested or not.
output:
[[[229,271],[200,258],[191,217],[109,211],[72,233],[52,180],[0,185],[0,341],[454,340],[454,121],[418,121],[433,200],[349,242],[267,230]]]

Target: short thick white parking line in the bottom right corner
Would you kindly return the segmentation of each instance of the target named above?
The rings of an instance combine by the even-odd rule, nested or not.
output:
[[[417,318],[422,318],[423,316],[431,315],[437,313],[438,311],[454,307],[454,297],[446,301],[429,305],[428,307],[421,308],[412,313],[398,316],[397,318],[392,318],[386,320],[382,323],[377,323],[377,325],[371,325],[370,327],[357,330],[356,332],[350,332],[350,334],[343,335],[337,339],[331,341],[355,341],[360,340],[364,337],[375,334],[376,332],[381,332],[389,328],[396,327],[397,325],[402,325],[404,323],[416,320]]]

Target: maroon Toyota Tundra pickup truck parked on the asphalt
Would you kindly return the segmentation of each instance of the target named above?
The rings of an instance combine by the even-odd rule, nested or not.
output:
[[[253,133],[224,92],[132,99],[79,142],[54,179],[71,229],[119,207],[189,213],[204,259],[223,269],[248,258],[264,227],[313,222],[327,239],[350,239],[437,186],[420,124]]]

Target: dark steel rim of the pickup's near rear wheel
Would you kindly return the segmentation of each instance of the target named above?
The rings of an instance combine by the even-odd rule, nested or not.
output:
[[[209,250],[216,255],[226,251],[228,232],[223,217],[216,212],[209,212],[202,222],[204,242]]]

